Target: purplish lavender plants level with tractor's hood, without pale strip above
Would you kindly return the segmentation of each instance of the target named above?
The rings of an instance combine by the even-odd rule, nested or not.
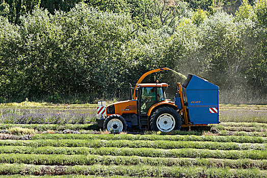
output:
[[[86,124],[94,123],[96,109],[0,109],[5,124]],[[221,110],[221,122],[267,123],[267,110]]]

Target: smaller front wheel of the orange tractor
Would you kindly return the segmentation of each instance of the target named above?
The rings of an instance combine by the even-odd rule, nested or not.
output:
[[[110,115],[106,117],[104,121],[104,130],[108,130],[110,132],[125,132],[126,129],[127,123],[121,115]]]

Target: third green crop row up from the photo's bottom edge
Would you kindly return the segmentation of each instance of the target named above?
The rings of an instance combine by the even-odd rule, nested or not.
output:
[[[222,150],[199,150],[199,149],[149,149],[127,147],[30,147],[30,146],[0,146],[1,154],[56,154],[56,155],[111,155],[111,156],[141,156],[159,158],[217,158],[217,159],[266,159],[267,152],[261,151],[222,151]]]

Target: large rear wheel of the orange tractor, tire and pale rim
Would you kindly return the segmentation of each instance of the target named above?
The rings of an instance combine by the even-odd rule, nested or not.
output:
[[[156,109],[150,119],[150,127],[153,131],[170,132],[180,130],[181,116],[178,112],[168,106]]]

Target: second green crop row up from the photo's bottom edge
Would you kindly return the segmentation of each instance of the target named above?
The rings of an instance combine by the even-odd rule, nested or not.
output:
[[[193,151],[193,150],[191,150]],[[208,154],[208,153],[207,153]],[[177,155],[176,155],[177,156]],[[230,168],[267,169],[267,160],[213,159],[213,158],[151,158],[139,156],[100,155],[36,155],[1,154],[0,163],[24,163],[35,165],[151,165],[151,166],[208,166]]]

